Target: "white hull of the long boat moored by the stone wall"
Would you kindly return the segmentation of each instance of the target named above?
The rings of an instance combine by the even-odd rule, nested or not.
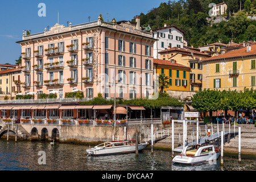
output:
[[[125,146],[116,146],[109,148],[89,148],[86,150],[88,155],[100,156],[100,155],[115,155],[115,154],[126,154],[135,152],[135,144],[133,145],[125,145]],[[147,143],[139,144],[138,151],[142,151],[147,147]]]

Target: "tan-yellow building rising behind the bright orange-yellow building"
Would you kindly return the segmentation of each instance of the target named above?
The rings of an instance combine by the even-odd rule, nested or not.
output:
[[[195,48],[178,48],[173,47],[160,51],[160,59],[163,60],[175,60],[176,63],[190,67],[189,73],[189,90],[199,91],[202,88],[203,66],[199,61],[210,57],[207,53],[202,53]]]

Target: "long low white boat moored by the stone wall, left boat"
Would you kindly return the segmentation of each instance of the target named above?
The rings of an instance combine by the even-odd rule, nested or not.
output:
[[[138,144],[138,151],[142,151],[146,146],[146,143]],[[86,150],[87,155],[113,155],[113,154],[125,154],[130,152],[135,152],[135,143],[134,140],[121,140],[121,141],[112,141],[101,143],[94,148],[88,148]]]

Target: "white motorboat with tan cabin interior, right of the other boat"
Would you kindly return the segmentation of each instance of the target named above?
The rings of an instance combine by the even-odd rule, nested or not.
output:
[[[220,148],[214,145],[201,146],[201,144],[192,144],[186,146],[180,155],[176,155],[172,162],[182,164],[201,164],[213,162],[220,156]]]

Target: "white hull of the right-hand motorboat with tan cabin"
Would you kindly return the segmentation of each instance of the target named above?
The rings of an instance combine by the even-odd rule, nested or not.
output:
[[[202,164],[202,163],[210,163],[214,160],[218,159],[218,156],[220,156],[220,152],[212,152],[207,155],[201,155],[201,156],[183,156],[183,155],[177,155],[172,160],[174,163],[181,163],[181,164]]]

